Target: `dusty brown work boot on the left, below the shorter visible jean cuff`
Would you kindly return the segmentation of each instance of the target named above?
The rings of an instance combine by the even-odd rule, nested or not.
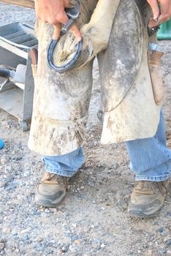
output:
[[[45,172],[37,186],[35,201],[39,206],[58,206],[64,199],[68,187],[68,177]]]

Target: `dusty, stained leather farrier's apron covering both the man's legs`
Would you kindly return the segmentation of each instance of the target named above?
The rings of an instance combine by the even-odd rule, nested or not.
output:
[[[74,69],[63,74],[47,65],[52,27],[37,23],[39,61],[33,67],[34,112],[28,146],[39,154],[66,154],[82,144],[96,55],[102,85],[101,142],[150,138],[159,124],[162,80],[159,76],[153,83],[155,75],[151,75],[150,69],[159,74],[162,53],[156,36],[148,37],[151,8],[146,1],[132,0],[99,0],[98,4],[84,0],[80,7],[77,25],[83,34],[83,55]],[[71,42],[72,35],[67,34],[61,48],[68,50]],[[58,61],[59,53],[62,54],[61,49],[56,48],[54,61]]]

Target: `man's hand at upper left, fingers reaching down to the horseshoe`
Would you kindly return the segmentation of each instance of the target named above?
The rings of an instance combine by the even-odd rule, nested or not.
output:
[[[50,23],[54,27],[53,39],[58,39],[62,24],[68,21],[64,10],[65,7],[69,7],[69,0],[35,0],[37,17],[45,23]],[[71,27],[70,31],[75,35],[77,41],[80,42],[82,37],[75,24]]]

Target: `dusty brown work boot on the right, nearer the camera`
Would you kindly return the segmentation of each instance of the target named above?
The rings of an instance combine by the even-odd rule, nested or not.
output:
[[[169,179],[166,181],[137,181],[131,195],[128,212],[134,217],[153,217],[164,204]]]

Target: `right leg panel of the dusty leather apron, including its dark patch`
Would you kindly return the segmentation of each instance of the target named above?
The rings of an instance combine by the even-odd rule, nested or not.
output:
[[[128,9],[129,6],[131,7],[124,12],[126,20],[129,20],[129,17],[131,17],[129,11],[136,10],[136,8],[138,10],[135,12],[140,14],[140,18],[137,18],[139,15],[134,15],[134,18],[132,16],[132,20],[129,20],[129,23],[121,23],[121,29],[124,31],[122,37],[125,35],[126,38],[123,39],[122,43],[120,42],[121,47],[118,44],[118,51],[116,52],[113,40],[115,40],[115,37],[120,37],[117,37],[115,33],[117,27],[115,28],[116,23],[114,21],[109,46],[104,53],[99,54],[100,69],[107,70],[105,78],[101,76],[101,80],[103,80],[102,110],[104,111],[101,138],[101,143],[103,144],[153,137],[159,124],[161,109],[161,102],[159,105],[156,105],[154,100],[151,74],[148,67],[148,44],[149,42],[154,44],[157,42],[156,34],[152,37],[148,36],[147,27],[148,20],[152,15],[151,7],[149,7],[145,0],[123,0],[121,4],[123,4],[121,8],[123,10],[125,5],[127,5]],[[120,19],[118,18],[118,20]],[[130,23],[133,23],[133,20],[134,28],[129,30],[129,27],[132,27]],[[141,26],[142,29],[140,29]],[[140,34],[138,31],[141,31]],[[118,32],[118,34],[120,33]],[[138,34],[142,34],[142,37],[137,37]],[[130,40],[135,45],[133,43],[130,45]],[[125,46],[124,42],[127,42],[126,45],[129,45],[129,47]],[[140,50],[140,53],[142,53],[141,59],[138,53],[136,55],[132,53],[133,47],[135,47],[136,51]],[[113,52],[117,54],[117,59],[113,58]],[[137,60],[135,60],[136,57]],[[118,70],[120,75],[118,75]],[[109,76],[110,79],[108,79]]]

